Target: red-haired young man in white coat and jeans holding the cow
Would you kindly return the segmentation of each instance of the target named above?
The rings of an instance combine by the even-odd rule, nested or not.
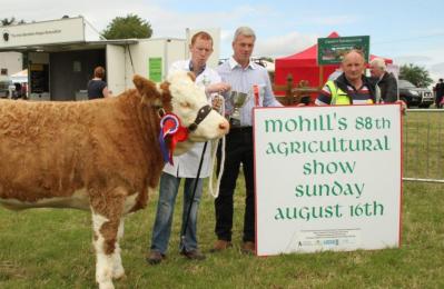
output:
[[[230,89],[228,83],[220,81],[219,74],[207,66],[207,60],[213,52],[213,38],[205,31],[197,32],[191,38],[189,46],[191,59],[180,60],[171,64],[169,72],[176,70],[191,71],[196,76],[196,83],[201,86],[208,97],[215,93],[226,92]],[[166,163],[160,177],[159,201],[157,205],[156,220],[152,228],[150,252],[147,261],[151,265],[160,263],[168,249],[168,241],[171,232],[172,213],[176,197],[179,190],[180,180],[184,185],[184,209],[181,230],[186,226],[185,238],[180,241],[179,250],[182,256],[193,260],[203,260],[205,255],[198,249],[197,242],[197,212],[203,193],[203,179],[209,176],[210,171],[210,148],[207,148],[204,156],[201,172],[198,179],[197,171],[203,155],[204,143],[195,143],[191,150],[175,156],[174,165]],[[191,200],[193,189],[196,186],[196,193]],[[187,217],[190,202],[193,202],[189,218]],[[188,218],[188,223],[186,220]]]

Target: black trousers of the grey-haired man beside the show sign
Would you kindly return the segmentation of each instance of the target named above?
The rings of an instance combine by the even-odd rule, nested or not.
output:
[[[255,241],[255,188],[254,188],[254,163],[253,163],[253,129],[231,129],[226,137],[226,155],[224,173],[220,180],[219,197],[215,200],[216,228],[215,232],[219,240],[231,240],[234,192],[236,180],[239,175],[240,163],[244,168],[246,185],[246,200],[244,215],[243,240]],[[220,146],[219,146],[220,148]],[[218,155],[218,170],[220,150]]]

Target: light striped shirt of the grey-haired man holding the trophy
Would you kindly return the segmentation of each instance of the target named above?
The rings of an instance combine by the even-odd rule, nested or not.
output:
[[[221,63],[217,69],[224,82],[231,86],[231,91],[247,93],[247,100],[240,109],[240,126],[250,127],[253,124],[253,108],[255,107],[254,86],[259,88],[259,107],[282,107],[280,102],[276,100],[273,93],[272,82],[269,81],[267,70],[254,62],[249,62],[246,68],[243,68],[231,57],[229,60]],[[233,112],[233,106],[225,96],[226,113]]]

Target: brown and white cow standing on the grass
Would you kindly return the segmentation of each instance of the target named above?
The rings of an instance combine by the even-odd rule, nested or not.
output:
[[[185,72],[160,86],[138,76],[134,83],[136,89],[93,101],[0,100],[0,203],[91,210],[100,288],[114,288],[112,278],[125,275],[118,243],[124,216],[145,208],[158,183],[159,112],[172,111],[189,127],[207,104]],[[176,151],[227,131],[225,118],[209,111]]]

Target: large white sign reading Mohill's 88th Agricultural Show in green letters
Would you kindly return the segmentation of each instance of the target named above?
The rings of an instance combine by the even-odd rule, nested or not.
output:
[[[257,255],[398,247],[398,104],[257,108]]]

